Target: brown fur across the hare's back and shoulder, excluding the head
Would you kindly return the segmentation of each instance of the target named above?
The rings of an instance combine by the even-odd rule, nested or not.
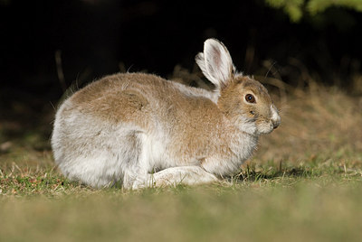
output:
[[[98,116],[103,122],[129,122],[143,128],[146,133],[156,128],[154,120],[149,120],[149,114],[159,116],[157,121],[173,127],[173,143],[186,145],[176,150],[182,155],[203,156],[220,150],[230,153],[230,149],[225,149],[226,145],[219,146],[214,142],[220,142],[234,132],[229,126],[215,134],[215,125],[224,126],[221,110],[210,99],[186,97],[170,84],[166,79],[149,74],[116,74],[81,89],[71,97],[71,102],[81,112]],[[157,103],[157,100],[162,100],[162,103]],[[158,105],[162,107],[157,108]],[[159,112],[159,109],[164,112]]]

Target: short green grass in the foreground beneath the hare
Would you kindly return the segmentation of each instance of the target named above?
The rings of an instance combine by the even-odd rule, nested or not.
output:
[[[51,166],[1,173],[0,241],[359,241],[362,170],[250,163],[219,184],[94,190]]]

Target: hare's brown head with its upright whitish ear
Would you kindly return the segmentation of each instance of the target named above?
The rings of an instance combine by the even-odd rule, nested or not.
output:
[[[278,109],[262,83],[235,70],[222,42],[205,41],[195,61],[215,86],[217,106],[233,124],[250,135],[269,134],[281,124]]]

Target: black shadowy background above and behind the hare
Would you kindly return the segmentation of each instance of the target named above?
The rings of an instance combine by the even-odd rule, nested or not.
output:
[[[195,54],[210,37],[224,42],[238,70],[295,87],[308,85],[307,72],[353,91],[361,72],[362,14],[345,8],[291,23],[262,0],[2,0],[0,21],[0,119],[26,120],[22,126],[53,115],[76,79],[82,86],[119,70],[167,78],[177,64],[195,71]]]

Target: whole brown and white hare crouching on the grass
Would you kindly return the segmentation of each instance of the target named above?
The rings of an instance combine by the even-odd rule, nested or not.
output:
[[[259,81],[235,70],[222,42],[206,40],[195,61],[214,90],[128,72],[74,92],[52,132],[62,173],[95,188],[136,190],[240,171],[258,137],[280,126],[278,109]]]

